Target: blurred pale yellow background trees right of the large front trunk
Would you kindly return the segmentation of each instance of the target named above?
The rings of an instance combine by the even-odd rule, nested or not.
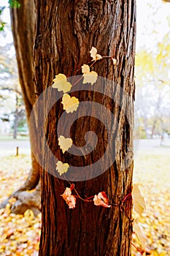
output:
[[[142,138],[163,138],[169,134],[169,34],[154,50],[141,48],[136,54],[136,106],[142,118]]]

